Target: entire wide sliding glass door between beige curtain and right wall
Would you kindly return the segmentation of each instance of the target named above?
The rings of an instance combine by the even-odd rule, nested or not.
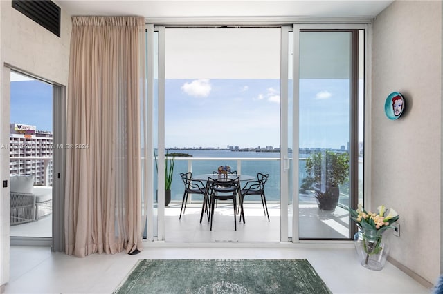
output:
[[[220,164],[271,174],[266,197],[278,211],[272,228],[278,237],[258,241],[351,239],[346,207],[363,195],[365,26],[148,27],[148,45],[149,36],[154,43],[147,62],[154,69],[147,155],[158,160],[148,160],[152,175],[145,174],[153,187],[147,190],[148,239],[174,239],[168,226],[179,221],[179,173],[211,173]],[[157,168],[163,170],[166,153],[192,155],[176,158],[168,204],[156,188],[165,183]],[[183,228],[199,202],[188,199],[183,236],[192,235]]]

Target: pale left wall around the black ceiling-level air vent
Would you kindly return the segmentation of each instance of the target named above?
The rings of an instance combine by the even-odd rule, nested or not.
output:
[[[68,84],[71,17],[62,11],[61,37],[28,19],[0,1],[0,146],[9,145],[10,66],[60,85]],[[1,182],[9,181],[9,153],[0,148]],[[1,183],[0,182],[0,183]],[[0,188],[0,284],[8,282],[9,259],[9,188]]]

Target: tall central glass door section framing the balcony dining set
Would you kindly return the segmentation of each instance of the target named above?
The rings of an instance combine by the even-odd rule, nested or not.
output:
[[[280,241],[280,211],[268,221],[259,195],[245,198],[249,213],[237,234],[221,225],[228,209],[216,212],[223,217],[215,218],[212,233],[206,222],[198,227],[203,233],[195,233],[201,195],[188,197],[179,219],[179,174],[211,174],[224,165],[254,178],[269,174],[266,202],[272,212],[280,209],[280,36],[280,28],[165,28],[164,152],[177,155],[166,241]],[[266,233],[254,234],[260,222]]]

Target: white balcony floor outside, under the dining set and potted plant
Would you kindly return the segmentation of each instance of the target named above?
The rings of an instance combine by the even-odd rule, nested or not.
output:
[[[215,210],[213,231],[207,219],[199,222],[201,204],[188,204],[179,220],[181,203],[165,208],[165,239],[168,242],[279,242],[280,204],[269,203],[270,222],[264,216],[262,204],[245,204],[246,224],[237,222],[234,231],[232,204],[220,202]],[[238,217],[237,217],[238,219]],[[300,206],[300,237],[343,238],[348,234],[349,216],[343,208],[319,210],[316,204]],[[51,215],[38,222],[10,226],[10,236],[51,237]],[[260,232],[260,233],[258,233]]]

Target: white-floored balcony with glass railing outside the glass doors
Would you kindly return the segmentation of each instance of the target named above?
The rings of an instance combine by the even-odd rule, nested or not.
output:
[[[25,160],[11,158],[11,160]],[[35,159],[41,160],[42,158]],[[44,158],[46,160],[47,158]],[[51,160],[51,159],[49,159]],[[305,159],[300,159],[300,170],[304,170]],[[238,173],[256,175],[257,172],[269,173],[266,183],[266,200],[270,222],[264,216],[260,198],[249,199],[244,204],[246,224],[237,220],[237,231],[233,228],[232,204],[219,202],[215,210],[213,231],[210,231],[206,219],[199,222],[201,213],[201,197],[188,198],[186,213],[179,220],[183,182],[179,173],[191,171],[194,174],[211,173],[217,166],[229,164]],[[156,173],[154,173],[156,175]],[[302,177],[300,172],[300,177]],[[48,169],[45,181],[48,179]],[[301,181],[300,181],[301,182]],[[154,177],[154,183],[156,178]],[[154,184],[156,186],[156,184]],[[151,195],[155,195],[155,188]],[[174,178],[172,180],[171,203],[165,207],[165,240],[167,242],[280,242],[280,159],[279,158],[208,158],[208,157],[176,157]],[[154,202],[156,199],[154,199]],[[299,235],[314,239],[347,239],[349,237],[349,219],[347,206],[349,196],[341,193],[339,206],[334,211],[318,209],[313,193],[299,195]],[[156,208],[156,204],[154,204]],[[289,212],[289,231],[291,231],[291,202],[287,206]],[[154,214],[156,209],[154,209]],[[237,217],[238,219],[238,217]],[[51,216],[38,222],[12,226],[11,236],[51,237]],[[316,237],[317,236],[317,237]]]

